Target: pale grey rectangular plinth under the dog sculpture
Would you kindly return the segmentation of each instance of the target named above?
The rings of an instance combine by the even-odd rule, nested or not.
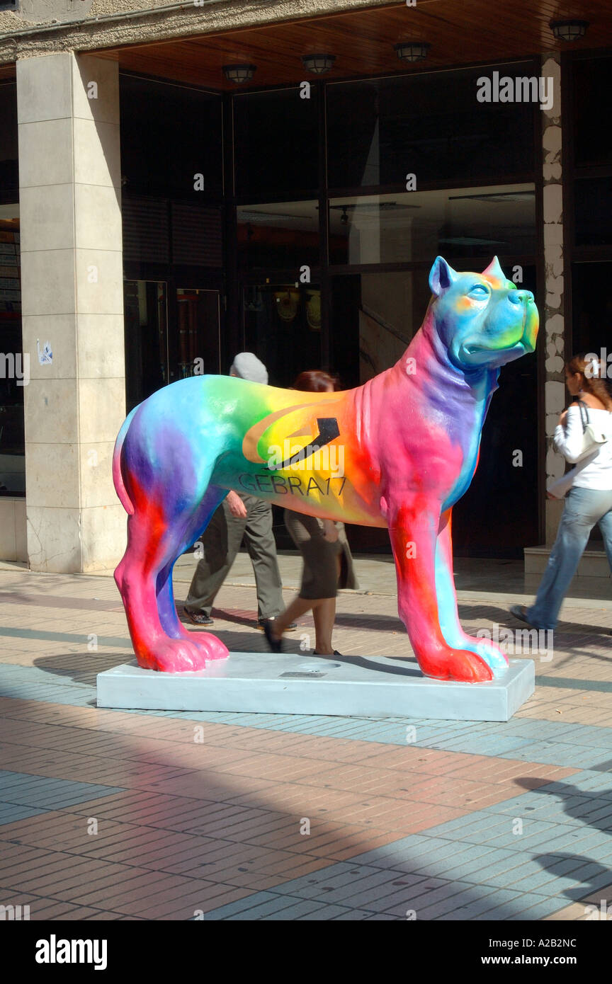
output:
[[[424,677],[413,659],[232,652],[198,673],[124,664],[97,674],[98,707],[507,721],[531,696],[530,659],[489,683]]]

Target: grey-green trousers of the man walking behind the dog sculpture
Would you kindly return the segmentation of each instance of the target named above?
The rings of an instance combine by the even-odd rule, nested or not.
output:
[[[259,617],[273,618],[284,611],[272,506],[252,495],[240,494],[240,498],[247,510],[244,519],[232,516],[224,499],[202,535],[204,557],[185,602],[185,608],[193,614],[211,616],[214,598],[229,574],[243,536],[255,574]]]

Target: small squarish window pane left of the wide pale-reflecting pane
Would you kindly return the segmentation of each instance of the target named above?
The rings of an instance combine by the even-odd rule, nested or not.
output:
[[[319,205],[280,202],[237,210],[238,263],[242,270],[295,269],[319,264]]]

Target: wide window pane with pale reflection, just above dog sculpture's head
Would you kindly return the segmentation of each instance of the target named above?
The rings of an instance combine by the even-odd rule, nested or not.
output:
[[[330,203],[330,263],[410,263],[530,255],[533,185],[337,198]]]

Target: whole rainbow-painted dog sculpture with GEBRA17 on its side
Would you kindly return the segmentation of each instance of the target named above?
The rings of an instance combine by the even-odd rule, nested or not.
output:
[[[387,526],[399,616],[423,673],[476,683],[506,668],[499,648],[459,625],[451,511],[475,471],[500,366],[533,351],[538,314],[497,258],[483,274],[458,274],[438,257],[429,282],[425,320],[403,356],[355,390],[194,376],[132,410],[113,459],[130,514],[115,580],[141,666],[176,673],[228,655],[215,636],[179,622],[172,568],[235,489],[298,513]]]

